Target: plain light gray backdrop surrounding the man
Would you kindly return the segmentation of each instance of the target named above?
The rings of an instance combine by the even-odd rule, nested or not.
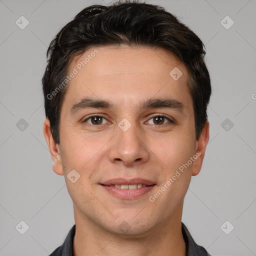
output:
[[[82,8],[109,2],[0,0],[2,256],[48,255],[74,224],[64,177],[53,172],[43,136],[40,79],[47,45],[59,29]],[[210,140],[202,170],[192,177],[185,196],[182,221],[212,255],[256,255],[256,1],[146,2],[177,15],[207,50],[213,90],[208,108]],[[29,21],[24,29],[15,24],[21,15]],[[226,15],[234,21],[229,29],[220,22]],[[230,24],[229,19],[222,22]],[[28,123],[23,130],[21,118]],[[229,124],[222,127],[226,118]],[[15,228],[21,220],[29,226],[24,234]],[[220,228],[226,220],[234,226],[229,234]]]

